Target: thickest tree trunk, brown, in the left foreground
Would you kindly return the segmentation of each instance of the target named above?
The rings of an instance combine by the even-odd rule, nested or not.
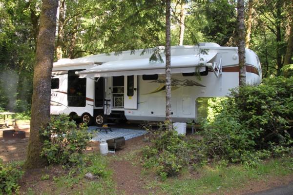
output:
[[[43,0],[40,31],[34,67],[32,114],[30,137],[25,167],[35,168],[44,165],[40,152],[44,137],[42,127],[50,121],[51,73],[54,59],[56,14],[58,0]]]

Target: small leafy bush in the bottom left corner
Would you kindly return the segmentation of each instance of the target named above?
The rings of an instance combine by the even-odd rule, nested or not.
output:
[[[12,194],[19,189],[18,180],[23,175],[19,166],[13,164],[2,164],[0,159],[0,192],[1,194]]]

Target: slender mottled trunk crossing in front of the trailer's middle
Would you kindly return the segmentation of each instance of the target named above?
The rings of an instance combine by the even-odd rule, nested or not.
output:
[[[166,121],[167,129],[172,129],[171,118],[171,0],[166,0]]]

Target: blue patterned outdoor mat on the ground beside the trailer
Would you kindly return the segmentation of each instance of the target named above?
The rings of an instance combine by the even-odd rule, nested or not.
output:
[[[94,136],[92,140],[95,140],[95,141],[100,141],[101,139],[108,140],[115,137],[124,137],[125,140],[128,140],[134,137],[145,135],[147,133],[146,130],[123,129],[123,128],[111,128],[112,132],[107,131],[108,133],[106,133],[105,130],[99,131],[99,130],[96,130],[96,128],[97,127],[95,126],[88,127],[88,131],[93,132]]]

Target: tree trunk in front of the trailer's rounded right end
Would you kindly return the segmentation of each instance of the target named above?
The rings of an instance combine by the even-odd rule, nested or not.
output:
[[[237,1],[239,86],[246,85],[244,0]]]

